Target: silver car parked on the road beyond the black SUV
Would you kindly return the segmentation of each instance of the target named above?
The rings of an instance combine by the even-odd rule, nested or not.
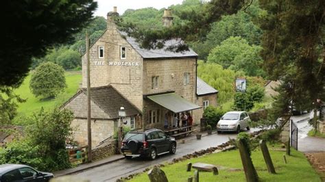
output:
[[[239,133],[241,129],[248,129],[248,122],[250,121],[250,116],[247,112],[227,112],[222,116],[217,123],[217,132],[221,131],[236,131]]]

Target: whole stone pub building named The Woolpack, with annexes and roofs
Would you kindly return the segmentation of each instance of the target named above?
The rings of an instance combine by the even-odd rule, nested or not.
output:
[[[171,25],[165,10],[163,22]],[[200,123],[203,110],[217,105],[217,90],[197,77],[197,54],[193,50],[175,53],[165,49],[146,50],[117,29],[107,16],[107,29],[90,47],[92,145],[109,138],[117,129],[120,107],[125,108],[131,129],[169,127],[173,115],[189,112],[193,124]],[[178,40],[165,46],[179,44]],[[82,56],[82,87],[63,107],[71,109],[74,139],[87,143],[86,55]]]

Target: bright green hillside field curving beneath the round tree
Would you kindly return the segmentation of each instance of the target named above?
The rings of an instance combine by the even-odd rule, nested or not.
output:
[[[19,94],[22,99],[27,99],[25,103],[19,103],[18,116],[14,122],[19,122],[19,118],[21,118],[21,116],[30,116],[34,112],[38,112],[41,107],[43,107],[45,110],[49,110],[62,105],[62,103],[67,101],[77,92],[79,83],[82,81],[81,72],[66,72],[65,77],[67,81],[67,88],[64,90],[64,92],[58,95],[55,99],[41,101],[29,90],[30,77],[31,76],[28,75],[23,81],[23,84],[21,84],[21,86],[14,91],[16,94]]]

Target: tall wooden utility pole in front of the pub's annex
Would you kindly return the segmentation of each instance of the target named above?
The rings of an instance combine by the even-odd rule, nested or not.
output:
[[[87,133],[88,133],[88,162],[92,161],[91,153],[91,63],[89,57],[89,35],[86,31],[86,59],[87,59]]]

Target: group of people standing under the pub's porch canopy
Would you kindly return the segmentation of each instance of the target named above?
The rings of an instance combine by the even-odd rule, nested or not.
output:
[[[165,114],[165,129],[168,128],[168,115]],[[190,126],[189,130],[191,130],[191,126],[193,125],[193,118],[191,116],[191,114],[189,112],[182,112],[180,114],[173,114],[173,120],[171,123],[173,128],[176,127],[186,127],[186,126]]]

